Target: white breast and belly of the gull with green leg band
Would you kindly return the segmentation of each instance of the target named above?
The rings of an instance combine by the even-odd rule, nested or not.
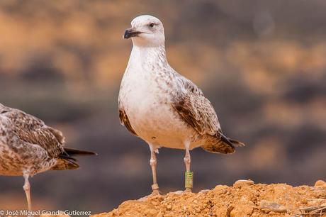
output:
[[[169,91],[174,87],[164,87],[162,81],[162,88],[158,84],[162,77],[151,67],[132,63],[129,62],[120,89],[120,101],[131,126],[147,143],[184,149],[185,141],[190,142],[196,133],[172,107]]]

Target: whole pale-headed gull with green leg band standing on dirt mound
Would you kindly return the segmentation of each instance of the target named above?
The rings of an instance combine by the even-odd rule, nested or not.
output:
[[[159,193],[155,152],[160,147],[186,150],[185,187],[191,191],[189,150],[201,147],[229,154],[244,144],[223,135],[218,116],[201,89],[169,65],[162,22],[144,15],[134,18],[131,26],[123,35],[132,38],[133,50],[120,86],[120,121],[150,146],[153,194]]]

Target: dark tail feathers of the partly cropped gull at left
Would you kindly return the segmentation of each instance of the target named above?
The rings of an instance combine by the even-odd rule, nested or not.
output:
[[[52,170],[64,170],[64,169],[78,169],[79,165],[77,159],[74,156],[77,155],[97,155],[95,152],[89,152],[85,150],[77,150],[72,148],[64,148],[64,153],[60,154],[57,158],[57,164],[52,167]]]

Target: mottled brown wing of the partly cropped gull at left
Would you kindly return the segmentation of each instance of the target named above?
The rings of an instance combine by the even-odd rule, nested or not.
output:
[[[51,157],[64,153],[64,137],[59,130],[50,128],[43,121],[18,109],[4,113],[13,123],[18,138],[44,148]]]

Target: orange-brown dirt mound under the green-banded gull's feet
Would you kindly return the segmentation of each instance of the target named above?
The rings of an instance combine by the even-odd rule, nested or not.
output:
[[[197,194],[176,191],[125,201],[95,216],[326,216],[326,182],[292,187],[239,180]]]

